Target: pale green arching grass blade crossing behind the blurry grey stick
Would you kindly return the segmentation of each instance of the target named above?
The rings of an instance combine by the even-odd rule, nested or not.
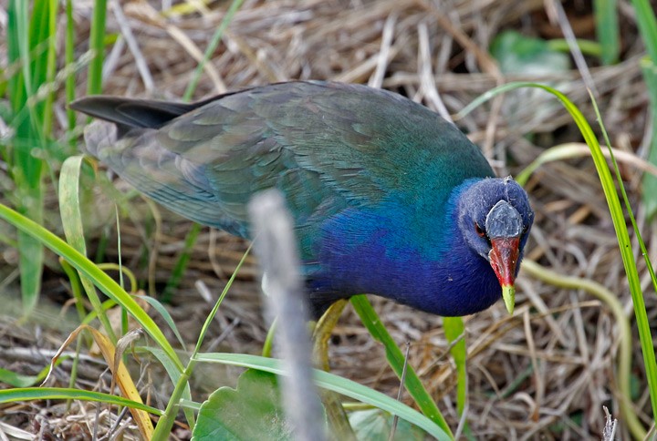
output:
[[[276,375],[285,375],[280,360],[274,358],[266,358],[258,355],[248,354],[197,354],[195,357],[197,362],[203,363],[221,363],[232,364],[235,366],[243,366],[259,371],[269,372]],[[381,392],[370,389],[370,387],[359,385],[356,382],[343,378],[336,374],[314,369],[315,384],[324,389],[337,392],[341,395],[349,396],[362,403],[374,405],[386,412],[393,415],[398,415],[400,418],[412,423],[415,426],[422,428],[429,435],[434,436],[440,440],[453,439],[451,434],[445,432],[441,426],[429,419],[427,416],[420,414],[413,410],[408,405],[391,398],[388,395],[383,395]]]

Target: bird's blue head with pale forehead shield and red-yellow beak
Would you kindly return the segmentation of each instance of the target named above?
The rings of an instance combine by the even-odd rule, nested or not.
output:
[[[513,313],[516,275],[534,221],[527,193],[511,178],[482,179],[466,186],[458,213],[465,242],[490,263]]]

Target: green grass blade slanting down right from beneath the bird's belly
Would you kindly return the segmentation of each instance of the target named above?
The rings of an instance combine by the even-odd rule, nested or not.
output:
[[[401,378],[404,355],[401,353],[399,346],[397,346],[394,340],[392,340],[391,334],[388,333],[388,330],[386,330],[383,323],[381,323],[381,319],[374,311],[374,308],[372,308],[370,301],[368,301],[367,297],[364,295],[355,295],[351,297],[351,304],[356,313],[359,314],[360,320],[368,329],[371,336],[383,344],[386,350],[388,363],[391,365],[394,373]],[[415,370],[410,364],[406,368],[405,387],[412,396],[412,399],[415,400],[415,403],[420,407],[420,410],[422,410],[422,414],[426,415],[433,421],[433,423],[441,427],[450,437],[454,437],[451,429],[447,426],[447,422],[444,420],[440,409],[438,409],[432,396],[429,395],[424,388],[420,378],[415,374]]]

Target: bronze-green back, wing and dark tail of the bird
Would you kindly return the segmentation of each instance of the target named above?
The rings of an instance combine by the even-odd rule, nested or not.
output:
[[[464,179],[492,175],[457,128],[370,87],[280,83],[195,105],[114,101],[105,111],[107,98],[84,99],[73,107],[119,127],[114,139],[89,128],[94,156],[171,210],[245,237],[245,204],[259,190],[283,191],[303,243],[349,206],[399,195],[440,204]]]

